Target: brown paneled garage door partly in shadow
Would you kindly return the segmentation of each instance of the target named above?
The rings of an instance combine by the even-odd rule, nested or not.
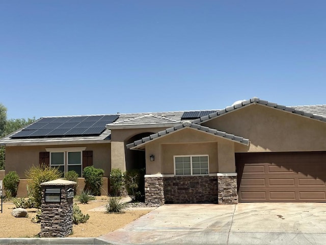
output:
[[[326,152],[236,153],[240,202],[326,202]]]

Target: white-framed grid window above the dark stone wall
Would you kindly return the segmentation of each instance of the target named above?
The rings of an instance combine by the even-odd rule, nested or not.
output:
[[[175,175],[208,175],[208,155],[174,156]]]

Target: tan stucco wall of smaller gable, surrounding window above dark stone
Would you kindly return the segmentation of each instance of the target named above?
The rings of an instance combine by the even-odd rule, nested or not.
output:
[[[209,173],[233,173],[234,144],[196,129],[177,131],[146,144],[146,174],[174,174],[175,155],[209,155]],[[149,160],[151,154],[154,162]]]

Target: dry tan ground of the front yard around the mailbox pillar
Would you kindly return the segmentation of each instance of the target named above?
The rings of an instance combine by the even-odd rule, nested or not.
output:
[[[91,201],[88,204],[78,204],[84,214],[88,213],[90,215],[90,219],[85,224],[73,225],[73,232],[69,237],[98,237],[122,228],[150,211],[126,211],[113,214],[89,211],[106,204],[105,200],[100,199],[98,198],[98,200]],[[34,237],[37,235],[41,229],[40,223],[31,222],[31,219],[36,215],[36,209],[27,209],[29,212],[27,218],[15,218],[11,215],[14,207],[15,205],[12,203],[3,204],[3,213],[0,213],[0,237]]]

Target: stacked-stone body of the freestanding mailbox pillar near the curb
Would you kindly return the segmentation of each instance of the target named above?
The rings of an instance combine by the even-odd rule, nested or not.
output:
[[[61,203],[45,203],[42,190],[41,232],[40,237],[66,237],[72,232],[73,198],[67,199],[67,190],[74,185],[46,186],[45,188],[62,188]]]

